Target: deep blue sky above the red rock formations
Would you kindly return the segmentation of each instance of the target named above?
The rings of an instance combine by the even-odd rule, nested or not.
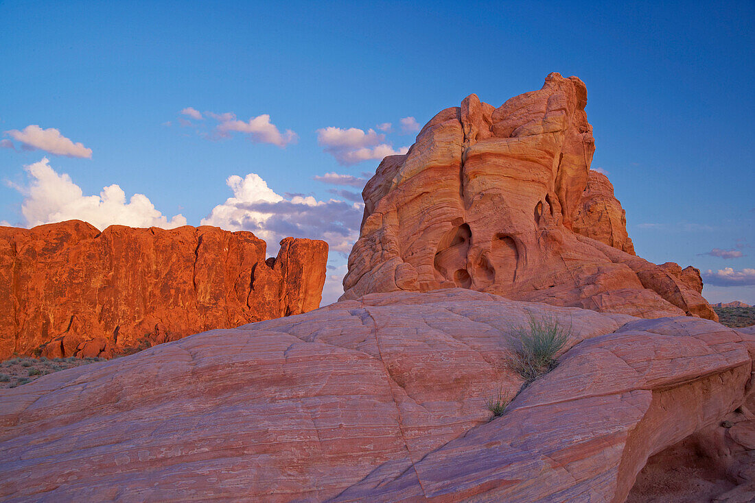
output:
[[[67,214],[59,184],[81,189],[69,210],[104,222],[117,194],[84,198],[117,184],[126,203],[149,199],[139,217],[152,204],[150,218],[199,225],[220,205],[212,222],[231,222],[236,175],[237,195],[282,208],[261,235],[337,241],[331,301],[361,187],[313,177],[362,178],[379,161],[353,161],[411,145],[402,118],[424,124],[470,93],[499,106],[560,72],[587,84],[593,167],[639,256],[710,269],[710,301],[753,304],[755,4],[629,3],[0,2],[0,221],[31,225],[29,198],[35,218]],[[313,211],[284,214],[296,204]]]

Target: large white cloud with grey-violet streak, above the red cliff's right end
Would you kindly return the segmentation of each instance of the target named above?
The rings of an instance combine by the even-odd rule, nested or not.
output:
[[[276,253],[279,241],[287,236],[322,239],[331,250],[341,252],[350,251],[359,238],[363,204],[317,201],[302,195],[284,198],[255,173],[244,178],[229,176],[226,182],[233,197],[214,207],[202,225],[254,232],[267,241],[270,254]]]

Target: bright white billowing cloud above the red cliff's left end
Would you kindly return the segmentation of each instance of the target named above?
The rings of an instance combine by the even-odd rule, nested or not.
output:
[[[117,185],[105,187],[100,195],[84,195],[70,176],[57,173],[49,162],[42,158],[24,167],[29,186],[11,185],[25,196],[21,213],[29,227],[71,219],[84,220],[100,230],[112,224],[162,228],[186,225],[180,214],[168,220],[146,195],[134,194],[126,202],[125,192]]]

